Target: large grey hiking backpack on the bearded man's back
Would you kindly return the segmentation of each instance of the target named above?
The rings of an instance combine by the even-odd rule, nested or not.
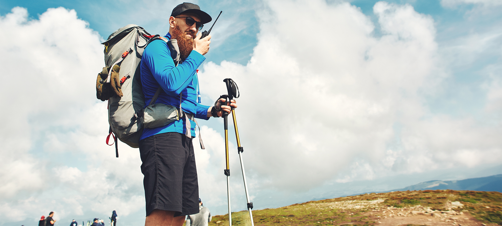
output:
[[[157,39],[168,43],[171,56],[177,65],[180,55],[176,40],[150,35],[145,29],[134,24],[119,28],[101,43],[104,45],[106,66],[97,76],[96,97],[102,101],[108,100],[110,129],[106,144],[111,146],[115,143],[116,157],[117,138],[133,148],[139,148],[145,106],[139,64],[147,45]],[[160,89],[159,87],[153,99],[157,98]],[[110,136],[114,140],[111,144]]]

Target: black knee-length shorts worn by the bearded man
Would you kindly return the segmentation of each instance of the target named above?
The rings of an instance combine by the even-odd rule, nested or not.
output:
[[[141,172],[145,175],[147,216],[152,210],[199,212],[199,184],[192,139],[170,132],[140,141]]]

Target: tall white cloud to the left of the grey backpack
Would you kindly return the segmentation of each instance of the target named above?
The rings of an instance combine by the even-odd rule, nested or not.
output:
[[[73,10],[48,9],[39,20],[27,16],[17,7],[0,21],[3,31],[16,34],[3,36],[8,45],[0,47],[0,103],[13,109],[0,113],[8,119],[0,132],[2,221],[49,211],[56,219],[89,210],[138,212],[144,195],[137,149],[119,145],[116,159],[113,147],[104,145],[106,103],[94,88],[103,64],[99,35]]]

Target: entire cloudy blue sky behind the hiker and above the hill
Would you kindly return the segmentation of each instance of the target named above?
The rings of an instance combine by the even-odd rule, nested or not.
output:
[[[499,1],[193,3],[213,19],[223,11],[199,68],[202,102],[224,92],[223,78],[237,82],[255,208],[502,173]],[[178,4],[2,2],[0,103],[14,110],[0,113],[0,225],[30,225],[49,211],[57,224],[107,219],[114,209],[143,224],[138,150],[120,143],[117,159],[104,145],[99,43],[127,24],[165,34]],[[200,196],[224,214],[222,121],[201,126]],[[230,158],[240,211],[240,165]]]

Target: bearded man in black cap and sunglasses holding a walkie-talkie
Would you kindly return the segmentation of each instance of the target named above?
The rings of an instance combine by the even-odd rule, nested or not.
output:
[[[181,106],[183,115],[187,116],[166,126],[143,130],[140,155],[141,171],[145,176],[145,225],[182,225],[185,215],[199,212],[192,144],[194,118],[221,117],[223,110],[230,112],[230,105],[237,107],[234,100],[222,106],[223,98],[217,101],[216,107],[197,102],[196,71],[205,60],[203,55],[209,51],[211,42],[210,35],[200,39],[198,31],[210,21],[211,17],[199,6],[180,4],[173,9],[169,33],[164,38],[177,40],[181,62],[175,65],[169,45],[163,40],[152,41],[143,53],[140,70],[145,107],[161,87],[155,103]]]

